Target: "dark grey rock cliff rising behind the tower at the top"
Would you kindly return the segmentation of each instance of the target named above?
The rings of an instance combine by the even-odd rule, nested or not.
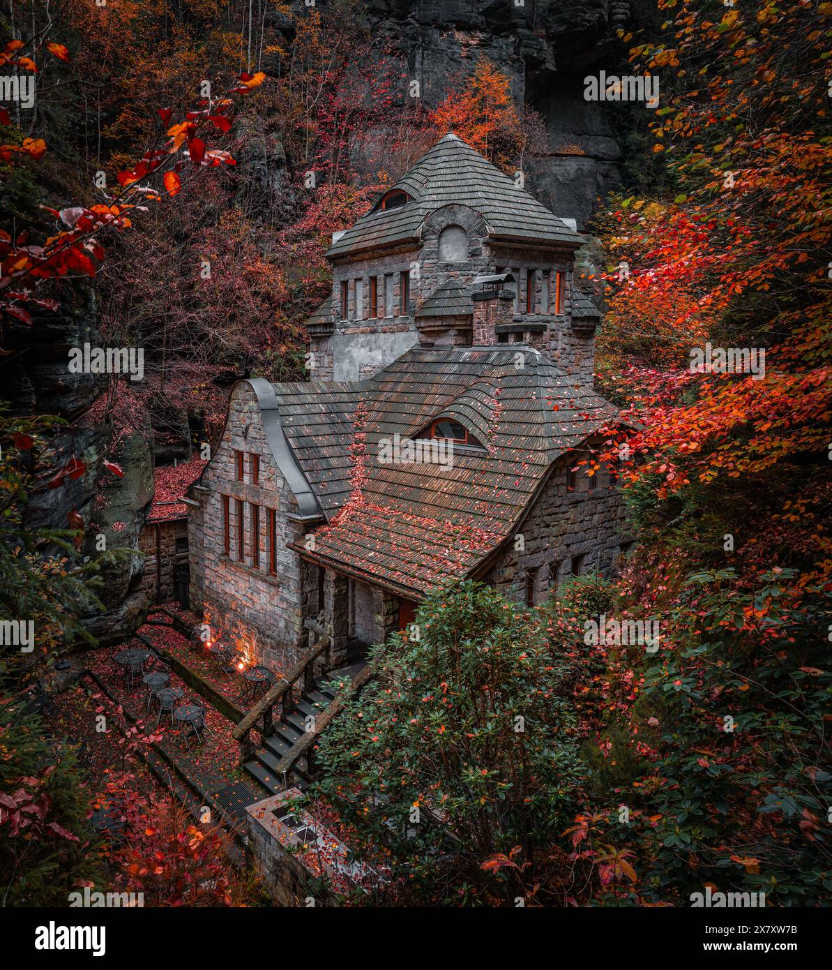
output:
[[[368,16],[431,107],[478,55],[508,75],[546,122],[548,150],[530,159],[528,187],[585,226],[617,184],[622,152],[611,106],[584,100],[584,77],[609,65],[629,0],[370,0]]]

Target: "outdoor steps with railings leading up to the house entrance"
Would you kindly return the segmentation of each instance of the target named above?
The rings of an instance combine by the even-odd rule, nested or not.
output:
[[[254,778],[262,791],[266,794],[283,792],[287,788],[299,788],[302,792],[312,781],[312,771],[309,769],[305,756],[297,760],[286,772],[284,779],[282,771],[278,769],[280,760],[285,758],[292,747],[307,733],[307,718],[316,720],[326,711],[335,700],[337,682],[344,678],[350,681],[364,669],[364,644],[356,645],[347,654],[347,663],[336,670],[329,670],[320,677],[307,684],[299,700],[294,702],[294,710],[290,714],[283,714],[278,721],[272,722],[269,736],[263,737],[262,745],[254,751],[253,757],[244,762],[245,770]],[[308,688],[311,689],[308,689]]]

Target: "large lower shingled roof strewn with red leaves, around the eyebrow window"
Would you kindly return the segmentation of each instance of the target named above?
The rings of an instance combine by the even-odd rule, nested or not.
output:
[[[414,347],[361,385],[337,385],[326,402],[312,389],[336,385],[277,385],[281,402],[287,386],[309,389],[305,404],[293,391],[281,413],[291,418],[298,463],[331,519],[316,531],[311,557],[417,593],[441,575],[467,574],[513,534],[552,463],[616,414],[529,348]],[[360,401],[359,467],[350,445]],[[461,421],[486,452],[458,448],[453,468],[378,461],[382,438],[418,435],[439,415]]]

